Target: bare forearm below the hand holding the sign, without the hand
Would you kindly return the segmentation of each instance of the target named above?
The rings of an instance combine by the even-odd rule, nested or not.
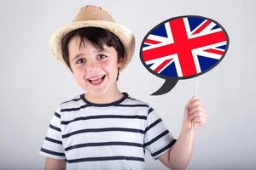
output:
[[[190,143],[190,140],[192,142]],[[186,169],[192,156],[194,131],[183,129],[169,152],[169,162],[173,170]],[[190,145],[191,144],[191,145]]]

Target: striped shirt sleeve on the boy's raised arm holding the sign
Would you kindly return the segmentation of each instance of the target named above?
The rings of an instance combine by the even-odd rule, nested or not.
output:
[[[176,142],[172,133],[166,128],[164,122],[153,108],[148,107],[148,116],[146,120],[144,147],[149,151],[154,160],[171,150],[172,145]]]

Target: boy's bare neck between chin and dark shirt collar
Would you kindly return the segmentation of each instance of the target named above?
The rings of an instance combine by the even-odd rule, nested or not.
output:
[[[102,95],[85,94],[84,97],[91,103],[107,104],[107,103],[112,103],[114,101],[117,101],[121,99],[123,96],[124,94],[122,94],[119,90],[117,90],[115,93],[108,93],[108,94],[102,94]]]

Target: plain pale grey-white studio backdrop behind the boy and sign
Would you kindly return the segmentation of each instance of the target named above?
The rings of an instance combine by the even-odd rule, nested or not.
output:
[[[134,58],[120,73],[119,88],[154,109],[177,137],[183,106],[195,94],[196,78],[179,81],[168,94],[150,96],[164,80],[139,59],[143,37],[161,21],[187,14],[217,20],[230,36],[221,63],[199,77],[198,98],[207,123],[195,132],[188,169],[256,169],[256,3],[253,0],[0,2],[0,169],[43,169],[40,146],[57,105],[84,93],[51,54],[52,31],[79,8],[93,4],[129,27],[137,40]],[[146,169],[167,169],[146,152]]]

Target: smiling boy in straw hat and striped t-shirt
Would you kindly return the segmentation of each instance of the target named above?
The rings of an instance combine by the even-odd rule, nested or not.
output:
[[[55,111],[40,150],[45,169],[66,169],[66,162],[71,169],[143,169],[145,150],[166,167],[187,167],[191,122],[201,127],[205,110],[195,97],[189,100],[176,140],[150,105],[119,91],[119,71],[134,52],[130,30],[102,8],[86,6],[49,43],[86,94]]]

